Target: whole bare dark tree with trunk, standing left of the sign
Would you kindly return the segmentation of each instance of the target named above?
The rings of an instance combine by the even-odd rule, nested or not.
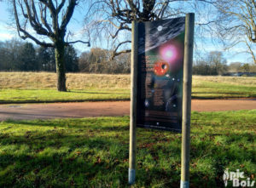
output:
[[[65,41],[67,25],[78,2],[78,0],[12,0],[19,36],[24,40],[30,38],[40,46],[55,48],[58,91],[67,91],[65,46],[79,42],[90,46],[89,42]],[[46,37],[49,42],[38,36]]]

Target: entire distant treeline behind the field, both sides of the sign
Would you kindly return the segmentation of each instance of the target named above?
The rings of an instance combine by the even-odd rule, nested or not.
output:
[[[131,54],[120,54],[113,60],[111,54],[112,52],[107,49],[91,48],[90,51],[78,55],[73,46],[67,46],[66,70],[88,73],[130,73]],[[0,71],[55,71],[54,48],[38,47],[15,39],[0,42]],[[193,64],[195,75],[236,75],[234,72],[256,72],[256,65],[240,62],[227,65],[227,60],[218,51],[210,52],[195,60]]]

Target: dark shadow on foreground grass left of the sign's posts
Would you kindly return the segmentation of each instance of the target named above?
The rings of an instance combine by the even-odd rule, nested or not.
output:
[[[0,179],[5,179],[0,180],[1,187],[99,187],[101,179],[102,184],[106,185],[114,179],[119,179],[120,184],[124,185],[127,182],[123,180],[126,177],[112,177],[110,173],[127,170],[128,162],[125,159],[128,157],[128,144],[124,145],[120,140],[113,141],[112,137],[31,134],[31,137],[26,134],[5,135],[1,138],[0,145],[5,148],[0,152]],[[118,161],[114,159],[115,155],[111,157],[109,154],[113,145],[117,145],[119,152],[125,153],[119,156]],[[9,146],[13,151],[9,151]],[[23,152],[20,148],[26,148],[27,151]],[[105,153],[105,158],[101,157],[101,153]],[[92,179],[95,179],[93,183],[90,182]]]

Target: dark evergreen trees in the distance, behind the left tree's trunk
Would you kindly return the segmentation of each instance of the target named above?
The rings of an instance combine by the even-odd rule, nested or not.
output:
[[[54,48],[34,47],[20,40],[0,42],[0,71],[55,71]],[[79,71],[79,58],[72,46],[65,48],[67,71]]]

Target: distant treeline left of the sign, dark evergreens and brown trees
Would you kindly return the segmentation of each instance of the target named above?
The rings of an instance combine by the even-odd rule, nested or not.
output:
[[[66,70],[91,73],[130,72],[130,54],[121,54],[113,60],[110,55],[110,51],[102,48],[91,48],[90,52],[78,55],[73,46],[67,46]],[[55,50],[15,39],[0,42],[0,71],[55,71]]]

